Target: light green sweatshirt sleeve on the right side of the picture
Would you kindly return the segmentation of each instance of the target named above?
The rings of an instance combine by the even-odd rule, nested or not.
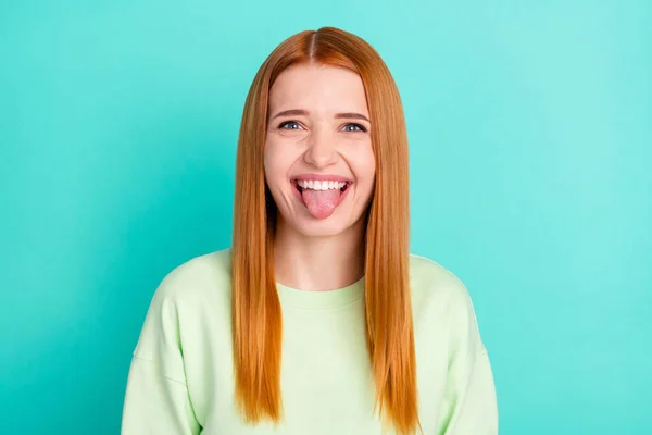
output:
[[[498,434],[498,405],[489,356],[464,289],[451,304],[449,373],[439,435]]]

